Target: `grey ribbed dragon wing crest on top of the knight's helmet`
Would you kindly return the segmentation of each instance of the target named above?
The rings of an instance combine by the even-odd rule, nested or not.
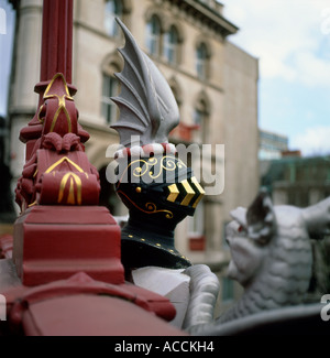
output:
[[[119,132],[124,147],[130,147],[132,135],[140,137],[141,145],[166,143],[179,121],[174,95],[128,28],[120,19],[116,20],[124,33],[125,46],[119,50],[124,58],[123,70],[114,74],[121,83],[121,93],[111,98],[120,109],[120,117],[111,128]]]

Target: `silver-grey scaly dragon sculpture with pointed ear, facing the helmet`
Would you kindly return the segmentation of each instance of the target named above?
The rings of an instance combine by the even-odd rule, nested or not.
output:
[[[304,209],[273,206],[262,189],[248,210],[240,207],[231,215],[234,220],[227,227],[231,250],[228,275],[242,284],[244,293],[216,321],[207,322],[205,315],[198,324],[191,318],[186,329],[191,334],[232,334],[244,323],[246,327],[275,325],[278,319],[285,324],[306,314],[319,316],[319,303],[304,303],[312,276],[311,239],[329,230],[330,198]],[[212,311],[206,293],[199,293],[199,301],[207,312]],[[191,310],[194,317],[199,307]]]

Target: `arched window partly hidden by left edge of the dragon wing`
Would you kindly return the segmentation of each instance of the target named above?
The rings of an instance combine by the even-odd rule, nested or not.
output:
[[[102,117],[105,118],[108,124],[113,124],[117,120],[117,106],[110,99],[110,97],[116,97],[119,93],[119,83],[118,79],[109,74],[103,74],[103,84],[102,84]]]

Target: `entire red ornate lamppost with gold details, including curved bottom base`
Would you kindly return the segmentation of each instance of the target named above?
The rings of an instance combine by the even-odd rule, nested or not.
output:
[[[38,107],[20,133],[21,215],[13,257],[0,261],[0,335],[180,335],[158,318],[175,316],[167,299],[124,281],[120,227],[98,206],[99,175],[74,101],[73,0],[43,3]]]

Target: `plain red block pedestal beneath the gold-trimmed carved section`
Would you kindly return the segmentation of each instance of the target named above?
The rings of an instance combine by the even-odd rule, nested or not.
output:
[[[98,281],[124,282],[120,227],[106,207],[29,208],[14,224],[13,260],[28,286],[81,271]]]

